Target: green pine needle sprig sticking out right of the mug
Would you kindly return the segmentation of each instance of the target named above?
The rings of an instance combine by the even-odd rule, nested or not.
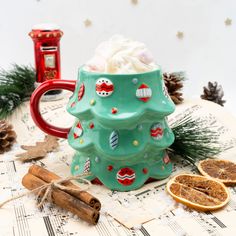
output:
[[[214,158],[222,151],[218,133],[210,129],[204,120],[194,119],[188,115],[176,121],[172,131],[175,141],[168,151],[181,156],[191,164],[202,159]]]

